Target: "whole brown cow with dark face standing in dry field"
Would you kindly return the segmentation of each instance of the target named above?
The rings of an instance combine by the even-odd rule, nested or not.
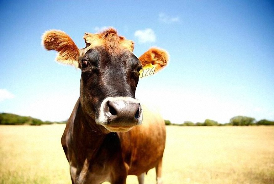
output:
[[[57,51],[56,61],[82,70],[77,100],[61,144],[70,165],[73,184],[125,184],[127,175],[144,183],[148,170],[156,168],[162,183],[162,157],[166,142],[164,120],[135,98],[140,70],[147,65],[157,73],[169,55],[152,47],[139,59],[134,42],[114,28],[84,34],[86,47],[79,49],[63,31],[42,36],[47,50]]]

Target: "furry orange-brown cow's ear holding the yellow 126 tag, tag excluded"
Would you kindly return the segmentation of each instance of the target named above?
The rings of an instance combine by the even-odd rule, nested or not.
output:
[[[150,64],[154,65],[155,72],[162,70],[168,63],[169,54],[164,50],[157,47],[152,47],[139,57],[139,60],[143,67]]]

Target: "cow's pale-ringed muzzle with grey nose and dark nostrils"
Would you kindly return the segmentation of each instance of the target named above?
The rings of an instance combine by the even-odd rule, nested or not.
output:
[[[125,132],[142,124],[143,111],[139,100],[131,97],[108,97],[103,100],[96,123],[108,131]]]

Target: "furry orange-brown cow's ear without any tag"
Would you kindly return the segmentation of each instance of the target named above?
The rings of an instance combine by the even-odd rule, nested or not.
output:
[[[65,32],[59,30],[46,31],[42,36],[42,45],[47,50],[58,52],[56,61],[78,67],[79,49]]]

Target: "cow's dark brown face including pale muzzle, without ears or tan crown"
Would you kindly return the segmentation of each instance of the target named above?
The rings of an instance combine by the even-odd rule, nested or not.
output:
[[[142,65],[128,50],[109,53],[93,47],[80,58],[82,108],[109,131],[127,131],[142,123],[135,90]]]

